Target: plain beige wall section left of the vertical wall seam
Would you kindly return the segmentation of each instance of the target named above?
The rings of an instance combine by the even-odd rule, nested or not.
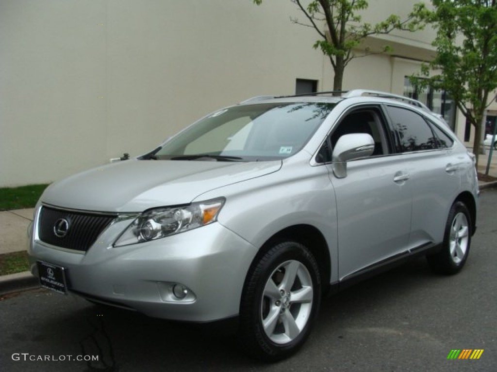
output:
[[[104,159],[105,3],[0,1],[0,186]]]

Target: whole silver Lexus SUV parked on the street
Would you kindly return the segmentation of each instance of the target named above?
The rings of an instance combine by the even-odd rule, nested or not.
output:
[[[478,193],[474,157],[417,101],[259,97],[48,187],[31,270],[150,316],[235,318],[244,349],[276,361],[304,343],[326,294],[418,255],[458,272]]]

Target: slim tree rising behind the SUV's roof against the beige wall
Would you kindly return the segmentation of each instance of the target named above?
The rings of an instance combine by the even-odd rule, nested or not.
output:
[[[291,21],[314,28],[320,36],[314,48],[321,49],[330,58],[334,72],[333,90],[342,90],[345,67],[351,60],[391,50],[389,46],[385,46],[380,51],[366,50],[364,54],[356,55],[354,50],[368,36],[388,34],[393,30],[416,31],[424,26],[421,15],[426,9],[423,3],[415,4],[405,20],[392,14],[383,22],[372,25],[361,23],[362,17],[357,14],[368,7],[366,0],[313,0],[307,6],[303,5],[302,0],[291,1],[304,13],[309,23],[301,23],[295,18],[291,18]],[[262,0],[253,2],[260,5]]]

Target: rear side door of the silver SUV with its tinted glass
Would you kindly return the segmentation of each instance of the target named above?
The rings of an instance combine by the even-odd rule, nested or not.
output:
[[[396,131],[413,192],[409,249],[440,243],[447,215],[460,188],[463,167],[453,140],[429,119],[405,107],[385,106]]]

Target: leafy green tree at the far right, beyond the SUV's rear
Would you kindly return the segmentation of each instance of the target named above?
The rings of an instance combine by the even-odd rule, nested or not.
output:
[[[430,84],[450,94],[457,108],[475,127],[473,151],[478,165],[485,110],[495,100],[497,88],[496,0],[433,0],[425,13],[437,36],[437,54],[423,64],[417,85]],[[441,72],[430,75],[430,71]],[[494,96],[494,97],[492,97]]]

